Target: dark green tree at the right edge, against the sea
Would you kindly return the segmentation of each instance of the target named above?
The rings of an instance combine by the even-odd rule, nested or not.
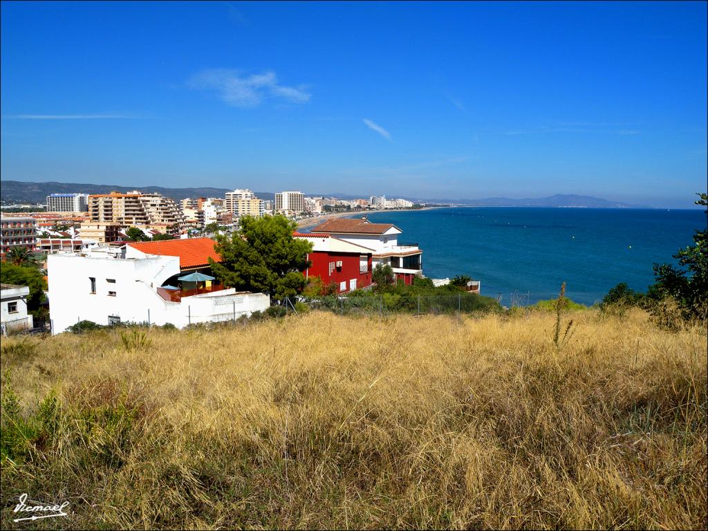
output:
[[[708,207],[708,194],[697,194],[696,205]],[[708,210],[706,210],[708,215]],[[708,231],[698,229],[692,246],[673,255],[680,267],[654,264],[656,289],[675,299],[685,319],[708,317]]]

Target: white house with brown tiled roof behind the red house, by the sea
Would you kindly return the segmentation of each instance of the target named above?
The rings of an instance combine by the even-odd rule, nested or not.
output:
[[[396,278],[411,284],[413,278],[423,275],[423,251],[418,244],[399,244],[403,231],[390,223],[371,223],[366,216],[360,219],[329,219],[314,227],[312,234],[329,234],[351,244],[372,249],[372,266],[391,265]]]

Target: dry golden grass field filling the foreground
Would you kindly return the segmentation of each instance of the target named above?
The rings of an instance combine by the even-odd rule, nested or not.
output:
[[[1,526],[704,529],[706,330],[571,317],[3,339]]]

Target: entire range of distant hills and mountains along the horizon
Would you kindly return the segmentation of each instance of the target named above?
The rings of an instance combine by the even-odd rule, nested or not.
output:
[[[130,190],[141,190],[142,192],[156,192],[166,197],[181,200],[185,198],[223,198],[224,194],[230,192],[229,188],[164,188],[162,186],[120,186],[106,184],[83,184],[83,183],[31,183],[24,181],[0,181],[0,202],[3,205],[14,204],[43,204],[47,200],[47,195],[52,193],[110,193],[128,192]],[[256,192],[258,198],[274,200],[275,194],[272,192]],[[368,195],[350,195],[343,193],[333,194],[311,194],[316,197],[339,199],[368,198]],[[392,198],[394,196],[391,196]],[[399,196],[396,196],[399,197]],[[486,198],[486,199],[421,199],[405,197],[404,199],[414,202],[424,202],[429,205],[465,205],[480,207],[586,207],[586,208],[652,208],[645,205],[632,205],[630,203],[609,201],[606,199],[592,198],[588,195],[551,195],[547,198],[536,199],[510,199],[510,198]]]

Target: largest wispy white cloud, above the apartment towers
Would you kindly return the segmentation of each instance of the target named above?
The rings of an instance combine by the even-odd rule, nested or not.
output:
[[[304,85],[279,84],[275,72],[246,75],[234,69],[207,69],[192,76],[187,86],[190,89],[215,91],[229,105],[244,108],[256,107],[266,98],[307,103],[311,97]]]

